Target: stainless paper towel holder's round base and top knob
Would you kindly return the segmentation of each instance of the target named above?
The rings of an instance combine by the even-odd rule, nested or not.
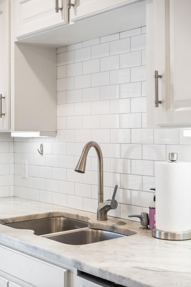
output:
[[[178,153],[175,152],[169,153],[169,160],[172,163],[177,161],[177,159],[178,159]],[[167,232],[153,227],[152,235],[156,238],[166,240],[188,240],[191,239],[191,230],[182,232]]]

